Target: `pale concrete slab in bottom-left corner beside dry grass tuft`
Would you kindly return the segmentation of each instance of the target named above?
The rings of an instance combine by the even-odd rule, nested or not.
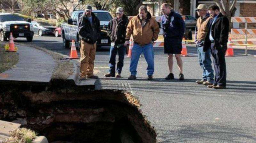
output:
[[[5,141],[6,138],[10,137],[9,132],[20,127],[18,123],[6,122],[0,120],[0,142]]]

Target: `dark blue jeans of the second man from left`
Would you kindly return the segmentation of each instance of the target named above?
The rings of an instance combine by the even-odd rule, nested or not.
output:
[[[125,47],[120,46],[120,47],[110,47],[110,52],[109,52],[109,73],[115,74],[115,57],[118,52],[118,63],[117,63],[117,73],[122,72],[122,68],[124,67],[124,55],[125,55]]]

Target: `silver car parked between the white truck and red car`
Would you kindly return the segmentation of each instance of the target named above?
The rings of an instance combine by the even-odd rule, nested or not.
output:
[[[55,34],[56,27],[47,22],[32,21],[31,23],[33,24],[35,34],[38,34],[39,36]]]

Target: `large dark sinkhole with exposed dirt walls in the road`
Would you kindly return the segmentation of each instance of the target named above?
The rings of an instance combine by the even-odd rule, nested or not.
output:
[[[156,143],[154,127],[130,93],[31,92],[30,87],[0,89],[0,120],[25,120],[22,127],[46,136],[49,143]]]

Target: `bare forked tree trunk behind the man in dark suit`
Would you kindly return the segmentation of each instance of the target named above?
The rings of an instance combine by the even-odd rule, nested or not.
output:
[[[236,11],[236,1],[237,0],[214,0],[214,2],[219,6],[221,13],[227,16],[229,20],[229,30],[233,28],[231,17],[234,16]]]

